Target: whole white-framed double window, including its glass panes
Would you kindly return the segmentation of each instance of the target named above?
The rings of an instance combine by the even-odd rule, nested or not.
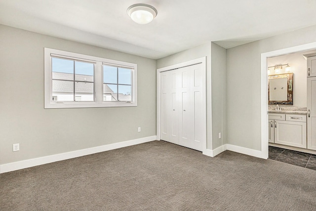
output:
[[[44,48],[45,108],[137,106],[137,65]]]

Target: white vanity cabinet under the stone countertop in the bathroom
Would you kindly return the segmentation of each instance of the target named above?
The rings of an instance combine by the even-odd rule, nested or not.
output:
[[[306,115],[270,113],[269,121],[269,142],[307,148]],[[273,129],[271,121],[274,121]]]

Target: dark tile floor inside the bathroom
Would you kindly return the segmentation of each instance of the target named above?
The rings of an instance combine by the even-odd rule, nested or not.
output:
[[[269,159],[316,170],[316,155],[269,146]]]

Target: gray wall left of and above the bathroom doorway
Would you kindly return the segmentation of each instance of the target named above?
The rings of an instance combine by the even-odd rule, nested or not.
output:
[[[316,42],[316,25],[227,49],[228,144],[261,149],[261,53]]]

